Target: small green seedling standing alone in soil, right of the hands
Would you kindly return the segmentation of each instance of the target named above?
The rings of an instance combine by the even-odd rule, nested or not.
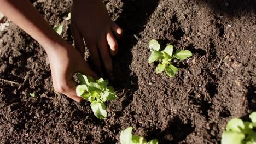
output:
[[[173,77],[179,70],[177,67],[172,65],[171,63],[172,59],[177,58],[182,61],[192,56],[192,53],[189,50],[177,50],[176,53],[173,55],[172,45],[168,45],[165,47],[163,51],[159,51],[160,44],[155,39],[150,40],[149,49],[150,51],[152,51],[152,53],[148,59],[148,62],[149,63],[153,63],[155,61],[161,62],[156,67],[155,72],[158,74],[166,71],[167,75],[170,77]]]

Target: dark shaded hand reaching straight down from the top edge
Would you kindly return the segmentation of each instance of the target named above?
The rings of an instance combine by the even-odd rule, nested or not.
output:
[[[98,74],[103,76],[102,59],[109,79],[113,79],[110,55],[117,54],[118,43],[115,37],[120,38],[123,31],[110,19],[103,2],[101,0],[74,0],[71,10],[71,29],[75,47],[82,56],[84,56],[84,39],[90,52],[92,64]]]

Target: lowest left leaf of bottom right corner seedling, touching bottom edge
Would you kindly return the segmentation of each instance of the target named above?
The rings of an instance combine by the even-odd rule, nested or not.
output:
[[[224,131],[222,133],[222,144],[241,144],[245,139],[245,134],[236,131]]]

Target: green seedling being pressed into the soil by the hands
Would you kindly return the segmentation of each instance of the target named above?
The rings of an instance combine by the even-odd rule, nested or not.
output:
[[[95,81],[92,77],[80,73],[78,74],[78,80],[77,95],[91,102],[91,109],[97,118],[106,118],[107,111],[104,102],[117,98],[114,88],[108,86],[108,80],[100,78]]]

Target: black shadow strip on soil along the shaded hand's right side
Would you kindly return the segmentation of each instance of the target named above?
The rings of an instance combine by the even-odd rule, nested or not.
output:
[[[119,52],[113,58],[114,67],[114,87],[115,90],[124,89],[129,91],[127,96],[132,97],[133,93],[138,89],[138,77],[131,73],[130,64],[132,61],[132,47],[135,46],[138,40],[134,35],[138,35],[144,29],[148,17],[153,13],[158,5],[158,0],[143,0],[143,1],[122,1],[123,11],[120,17],[115,21],[124,31],[124,37],[119,41]],[[125,92],[126,93],[126,92]],[[124,95],[122,95],[124,96]],[[125,109],[127,101],[123,100],[122,108]]]

